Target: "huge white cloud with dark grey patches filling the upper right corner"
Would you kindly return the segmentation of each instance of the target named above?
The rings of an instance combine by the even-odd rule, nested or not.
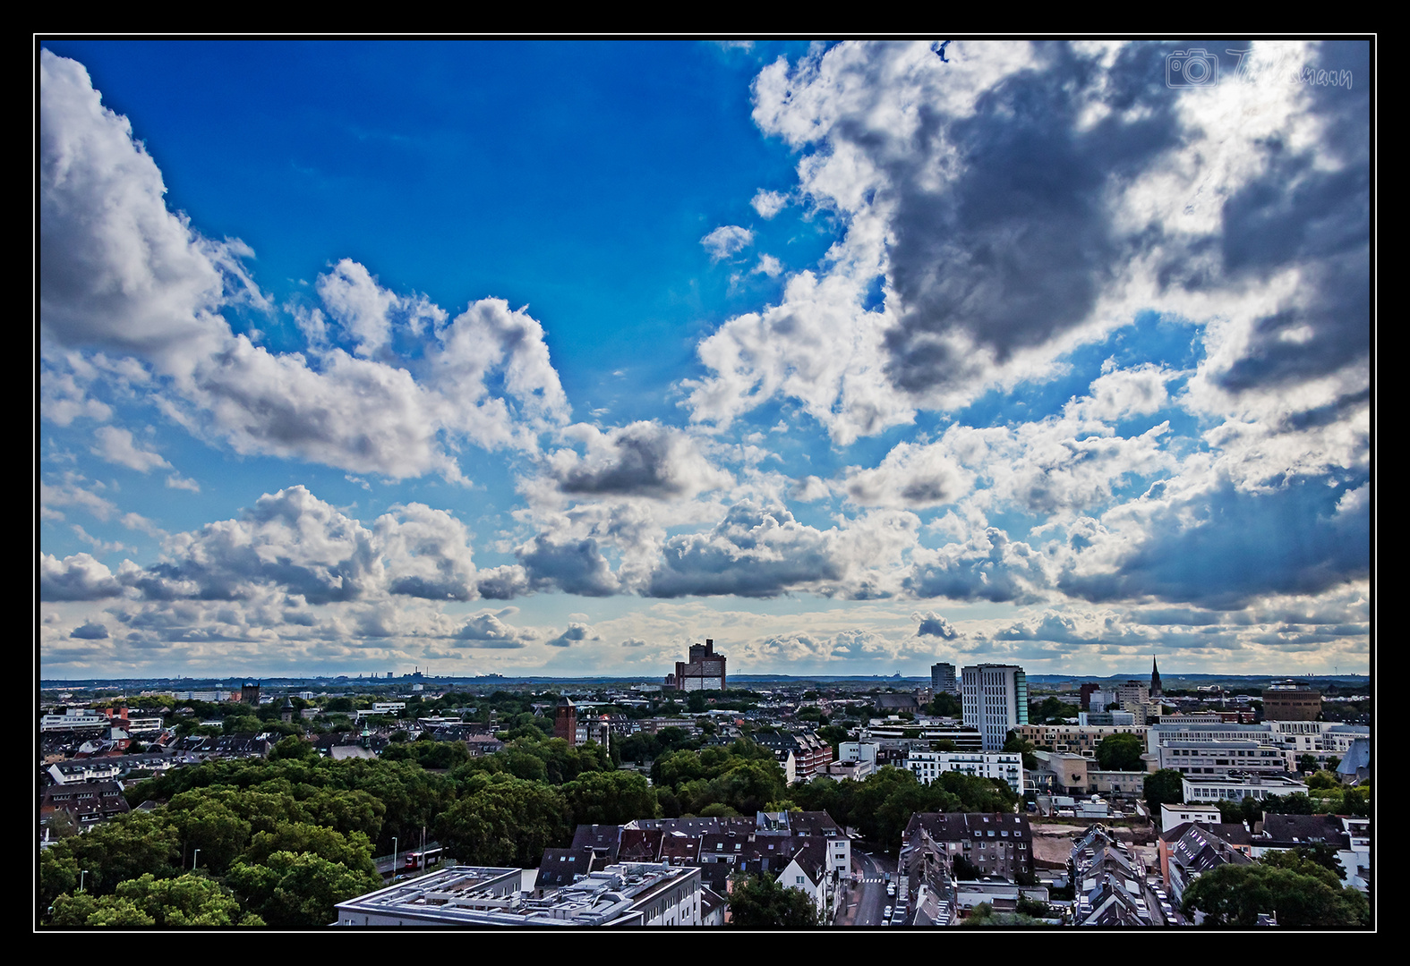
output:
[[[1366,44],[1252,46],[1369,76]],[[867,42],[766,68],[754,120],[845,230],[816,279],[701,344],[695,418],[784,396],[846,444],[1049,377],[1148,308],[1206,325],[1203,408],[1363,387],[1369,87],[1172,90],[1170,49]]]

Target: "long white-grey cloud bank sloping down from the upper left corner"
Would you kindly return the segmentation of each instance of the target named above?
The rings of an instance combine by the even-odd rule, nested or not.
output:
[[[245,269],[250,248],[204,238],[166,208],[157,163],[128,121],[103,107],[79,63],[41,51],[39,72],[39,321],[48,345],[135,360],[137,375],[158,377],[168,415],[240,453],[392,479],[434,472],[461,480],[447,437],[534,449],[537,432],[567,421],[536,320],[485,299],[447,324],[423,296],[393,294],[347,259],[316,290],[351,353],[330,342],[333,327],[317,308],[296,313],[316,366],[234,334],[224,308],[274,311]],[[391,355],[399,337],[419,339],[420,352]],[[79,390],[76,382],[56,386],[48,411],[59,421],[100,414]]]

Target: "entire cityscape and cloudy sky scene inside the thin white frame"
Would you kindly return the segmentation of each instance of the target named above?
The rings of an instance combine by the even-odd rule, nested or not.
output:
[[[37,37],[37,931],[1369,931],[1373,37]]]

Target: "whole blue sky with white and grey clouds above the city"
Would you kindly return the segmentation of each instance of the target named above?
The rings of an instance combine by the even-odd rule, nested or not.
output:
[[[41,41],[41,673],[1366,673],[1372,83]]]

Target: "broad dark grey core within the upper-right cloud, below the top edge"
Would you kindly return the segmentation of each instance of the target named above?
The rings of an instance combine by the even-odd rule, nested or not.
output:
[[[1003,362],[1087,321],[1114,273],[1153,241],[1115,224],[1110,192],[1183,138],[1179,99],[1162,83],[1167,49],[1127,46],[1110,69],[1065,44],[1036,51],[1031,69],[986,90],[971,114],[922,110],[919,149],[881,159],[904,306],[885,339],[887,372],[901,389],[964,377],[966,360],[936,338],[946,332],[966,332]],[[1080,125],[1094,101],[1112,110]],[[835,137],[847,139],[847,125]],[[943,163],[959,173],[936,183],[939,155],[950,152]]]

